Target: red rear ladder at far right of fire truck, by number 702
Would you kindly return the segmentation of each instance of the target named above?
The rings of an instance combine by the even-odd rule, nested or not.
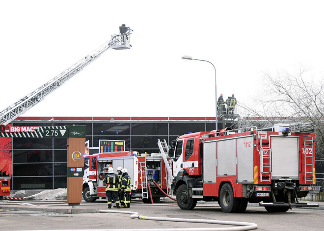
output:
[[[314,183],[314,148],[313,148],[313,138],[312,137],[304,137],[303,144],[303,152],[304,155],[304,180],[305,184],[313,184]]]

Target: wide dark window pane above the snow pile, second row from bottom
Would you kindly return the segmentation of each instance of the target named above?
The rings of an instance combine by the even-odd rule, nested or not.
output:
[[[34,176],[52,176],[53,164],[13,164],[13,175],[31,178]]]

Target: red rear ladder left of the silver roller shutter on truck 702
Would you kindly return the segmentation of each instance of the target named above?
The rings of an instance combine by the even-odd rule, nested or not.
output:
[[[260,135],[260,182],[271,181],[271,148],[270,138],[263,137]],[[267,174],[268,179],[263,179],[264,175]]]

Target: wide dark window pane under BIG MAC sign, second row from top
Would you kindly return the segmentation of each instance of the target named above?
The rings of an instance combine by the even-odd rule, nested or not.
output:
[[[13,151],[14,163],[41,163],[52,162],[52,150],[28,150],[28,151]]]

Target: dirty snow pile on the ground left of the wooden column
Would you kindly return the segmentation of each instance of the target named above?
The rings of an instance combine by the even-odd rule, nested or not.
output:
[[[31,195],[32,194],[32,195]],[[23,198],[27,201],[32,200],[47,200],[47,201],[55,201],[55,200],[66,200],[66,188],[57,188],[53,190],[44,190],[44,191],[25,191],[19,190],[14,191],[10,194],[10,197],[18,197]]]

